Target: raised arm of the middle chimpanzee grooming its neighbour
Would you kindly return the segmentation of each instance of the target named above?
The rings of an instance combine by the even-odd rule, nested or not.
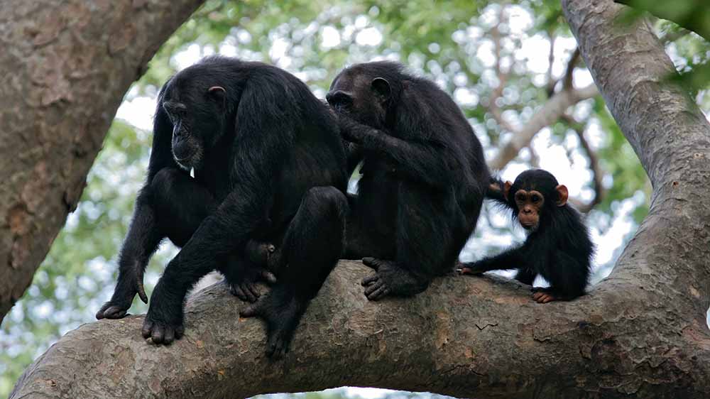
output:
[[[360,124],[348,116],[340,116],[343,136],[370,151],[377,151],[392,160],[399,173],[437,188],[451,187],[457,171],[462,170],[456,151],[443,142],[427,140],[404,141],[385,131]]]

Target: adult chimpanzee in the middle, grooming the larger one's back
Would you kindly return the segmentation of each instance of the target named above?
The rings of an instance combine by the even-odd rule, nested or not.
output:
[[[474,231],[490,179],[481,143],[449,95],[395,62],[346,68],[326,98],[349,171],[362,161],[344,257],[376,269],[369,300],[420,293]]]

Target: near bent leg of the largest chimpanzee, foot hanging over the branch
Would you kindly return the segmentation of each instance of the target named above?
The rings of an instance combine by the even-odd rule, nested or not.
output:
[[[306,192],[278,248],[280,266],[271,293],[241,312],[264,319],[267,356],[278,359],[290,341],[310,300],[336,265],[344,241],[345,195],[334,187]]]

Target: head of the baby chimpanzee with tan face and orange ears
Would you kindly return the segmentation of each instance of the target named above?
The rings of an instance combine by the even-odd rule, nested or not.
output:
[[[515,217],[526,231],[535,231],[540,220],[554,207],[567,204],[567,187],[557,184],[557,180],[545,170],[527,170],[514,183],[506,182],[503,194],[514,205]],[[552,208],[552,209],[551,209]]]

